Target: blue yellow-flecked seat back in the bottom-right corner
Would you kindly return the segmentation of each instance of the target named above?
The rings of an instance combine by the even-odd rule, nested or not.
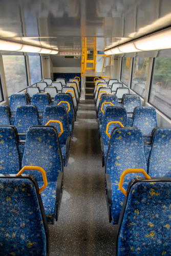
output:
[[[170,182],[137,182],[130,189],[118,256],[171,255]]]

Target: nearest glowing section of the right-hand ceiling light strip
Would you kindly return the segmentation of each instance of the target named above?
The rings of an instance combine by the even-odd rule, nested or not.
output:
[[[171,30],[166,30],[134,42],[141,51],[152,51],[171,48]]]

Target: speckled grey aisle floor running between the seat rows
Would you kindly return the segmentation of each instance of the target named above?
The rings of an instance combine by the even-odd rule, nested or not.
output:
[[[49,225],[50,256],[115,256],[117,226],[108,220],[93,100],[80,100],[64,177],[59,219]]]

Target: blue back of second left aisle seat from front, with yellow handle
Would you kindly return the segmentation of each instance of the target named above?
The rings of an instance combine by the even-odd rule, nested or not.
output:
[[[22,160],[25,165],[44,168],[48,181],[57,181],[58,174],[63,172],[58,134],[54,126],[32,126],[26,135],[26,146]],[[25,170],[37,181],[43,181],[41,173],[36,170]]]

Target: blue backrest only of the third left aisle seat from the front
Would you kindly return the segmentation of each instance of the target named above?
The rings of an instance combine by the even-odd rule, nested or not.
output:
[[[60,145],[66,145],[67,138],[70,136],[70,126],[65,106],[47,106],[44,113],[43,125],[46,125],[49,120],[58,120],[62,123],[63,133],[59,136],[59,142]],[[58,134],[60,134],[61,127],[59,123],[52,122],[49,125],[55,126]]]

